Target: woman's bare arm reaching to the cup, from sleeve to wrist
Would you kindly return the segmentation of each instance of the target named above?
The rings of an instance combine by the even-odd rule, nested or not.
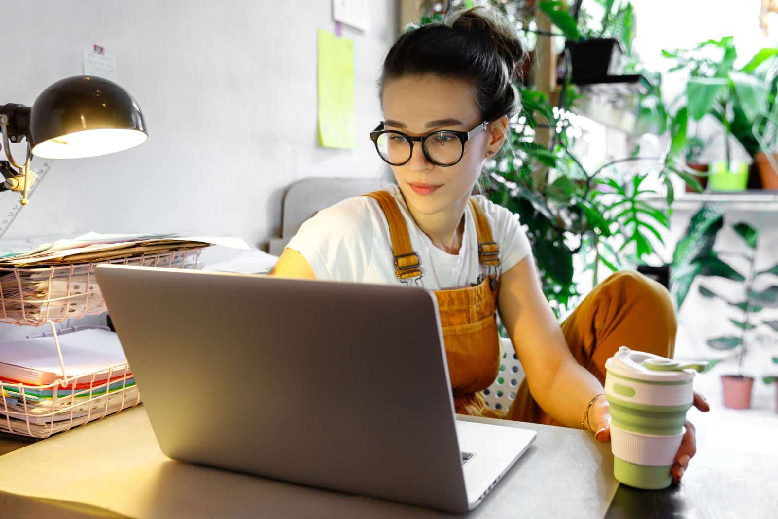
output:
[[[591,398],[605,391],[570,353],[543,295],[532,254],[500,276],[499,314],[535,401],[557,423],[580,428]],[[597,430],[594,419],[591,427]]]

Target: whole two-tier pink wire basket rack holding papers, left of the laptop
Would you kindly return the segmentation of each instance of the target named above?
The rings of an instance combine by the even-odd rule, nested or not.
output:
[[[82,326],[58,331],[54,323],[107,311],[94,276],[97,265],[198,268],[203,248],[72,265],[0,267],[0,323],[50,324],[51,332],[39,336],[52,338],[62,375],[47,385],[0,379],[0,432],[47,438],[142,402],[128,363],[68,376],[58,335],[82,328],[108,328]]]

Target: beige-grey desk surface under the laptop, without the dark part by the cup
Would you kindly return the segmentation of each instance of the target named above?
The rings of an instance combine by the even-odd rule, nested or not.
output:
[[[538,437],[467,517],[541,517],[551,510],[554,517],[605,516],[618,486],[609,444],[580,430],[499,423]],[[0,517],[54,517],[54,511],[61,519],[450,517],[170,460],[142,406],[0,456]]]

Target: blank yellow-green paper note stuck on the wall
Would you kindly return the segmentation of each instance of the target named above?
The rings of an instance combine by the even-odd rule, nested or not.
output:
[[[319,143],[324,148],[356,146],[354,42],[318,31]]]

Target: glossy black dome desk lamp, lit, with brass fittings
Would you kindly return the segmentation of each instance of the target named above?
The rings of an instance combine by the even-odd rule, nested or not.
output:
[[[8,162],[0,161],[5,177],[0,191],[23,191],[37,175],[30,158],[79,159],[106,155],[138,146],[149,137],[138,103],[116,83],[93,75],[74,75],[55,82],[37,97],[32,107],[8,103],[0,106],[2,144]],[[13,160],[10,142],[27,140],[26,158]],[[16,167],[18,171],[12,167]]]

